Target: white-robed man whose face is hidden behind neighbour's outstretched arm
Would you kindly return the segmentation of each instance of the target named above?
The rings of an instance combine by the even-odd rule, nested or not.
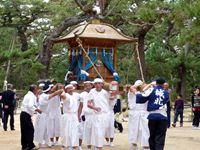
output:
[[[63,85],[57,83],[50,93],[56,90],[63,89]],[[58,145],[58,140],[61,135],[61,109],[60,109],[60,95],[52,97],[48,103],[48,121],[47,133],[50,138],[50,145]],[[55,138],[55,141],[54,141]]]

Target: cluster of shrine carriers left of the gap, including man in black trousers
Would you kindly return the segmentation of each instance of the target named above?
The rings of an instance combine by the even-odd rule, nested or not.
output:
[[[104,90],[103,80],[85,81],[84,90],[76,92],[77,82],[53,85],[45,82],[41,91],[31,85],[22,102],[20,114],[21,145],[23,150],[52,147],[81,150],[82,141],[88,150],[103,148],[104,139],[113,146],[114,105],[118,83]],[[113,88],[113,86],[114,88]],[[62,105],[62,109],[60,109]],[[31,116],[37,112],[35,125]],[[61,138],[61,143],[59,143]]]

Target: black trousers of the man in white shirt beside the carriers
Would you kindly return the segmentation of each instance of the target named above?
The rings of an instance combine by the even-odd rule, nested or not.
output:
[[[33,143],[34,127],[31,116],[23,111],[20,114],[20,128],[22,149],[31,150],[35,147]]]

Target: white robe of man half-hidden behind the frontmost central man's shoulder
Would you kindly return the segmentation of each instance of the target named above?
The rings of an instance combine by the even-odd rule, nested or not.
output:
[[[94,111],[88,108],[88,96],[89,93],[84,91],[80,94],[81,102],[83,102],[82,115],[85,116],[85,121],[81,124],[83,125],[83,141],[86,145],[91,145],[91,135],[92,135],[92,122]]]

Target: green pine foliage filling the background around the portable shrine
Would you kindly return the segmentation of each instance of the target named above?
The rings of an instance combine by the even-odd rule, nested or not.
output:
[[[91,6],[93,0],[82,0]],[[129,36],[136,36],[145,25],[153,28],[145,36],[145,61],[147,82],[157,76],[164,76],[175,89],[180,79],[177,67],[186,66],[187,95],[193,86],[200,83],[200,1],[176,0],[112,0],[105,10],[105,21],[119,28]],[[42,50],[43,39],[55,27],[69,17],[82,13],[74,0],[2,0],[0,1],[0,86],[3,85],[8,60],[11,69],[8,80],[17,88],[24,88],[36,82],[38,72],[44,67],[37,59]],[[174,24],[170,35],[166,37],[169,21]],[[17,27],[26,25],[25,35],[29,48],[20,50],[21,43]],[[66,31],[67,32],[67,31]],[[166,42],[168,39],[168,43]],[[11,51],[11,45],[14,46]],[[165,42],[164,42],[165,40]],[[168,45],[166,45],[168,44]],[[68,53],[65,46],[53,47],[50,65],[50,78],[64,81],[68,67]],[[136,80],[136,62],[132,45],[118,47],[117,72],[121,83],[133,83]]]

